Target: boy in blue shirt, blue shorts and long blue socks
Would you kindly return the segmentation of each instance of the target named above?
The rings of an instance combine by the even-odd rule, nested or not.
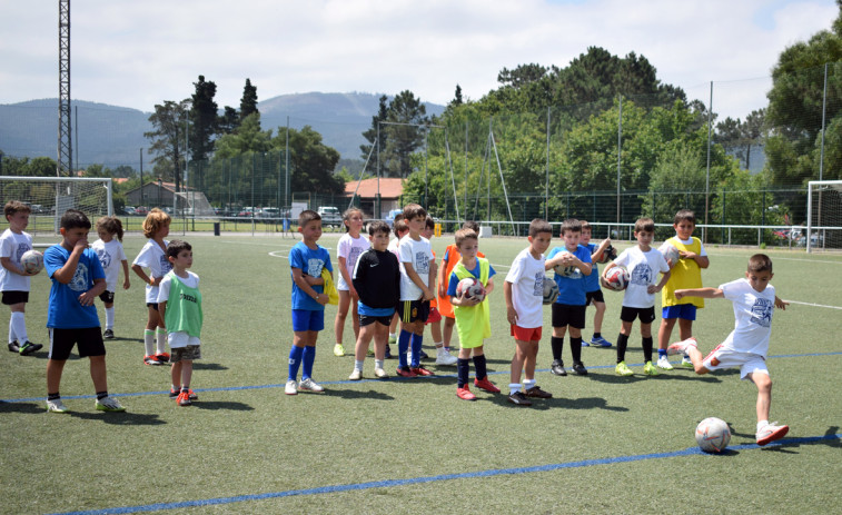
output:
[[[306,209],[298,216],[298,231],[301,241],[289,251],[289,269],[293,275],[293,348],[289,350],[289,377],[284,393],[297,395],[299,389],[320,394],[325,392],[313,380],[313,362],[316,359],[316,338],[325,328],[325,280],[321,270],[326,268],[333,278],[330,254],[318,245],[321,237],[321,217]],[[298,369],[304,364],[301,382],[296,385]]]

